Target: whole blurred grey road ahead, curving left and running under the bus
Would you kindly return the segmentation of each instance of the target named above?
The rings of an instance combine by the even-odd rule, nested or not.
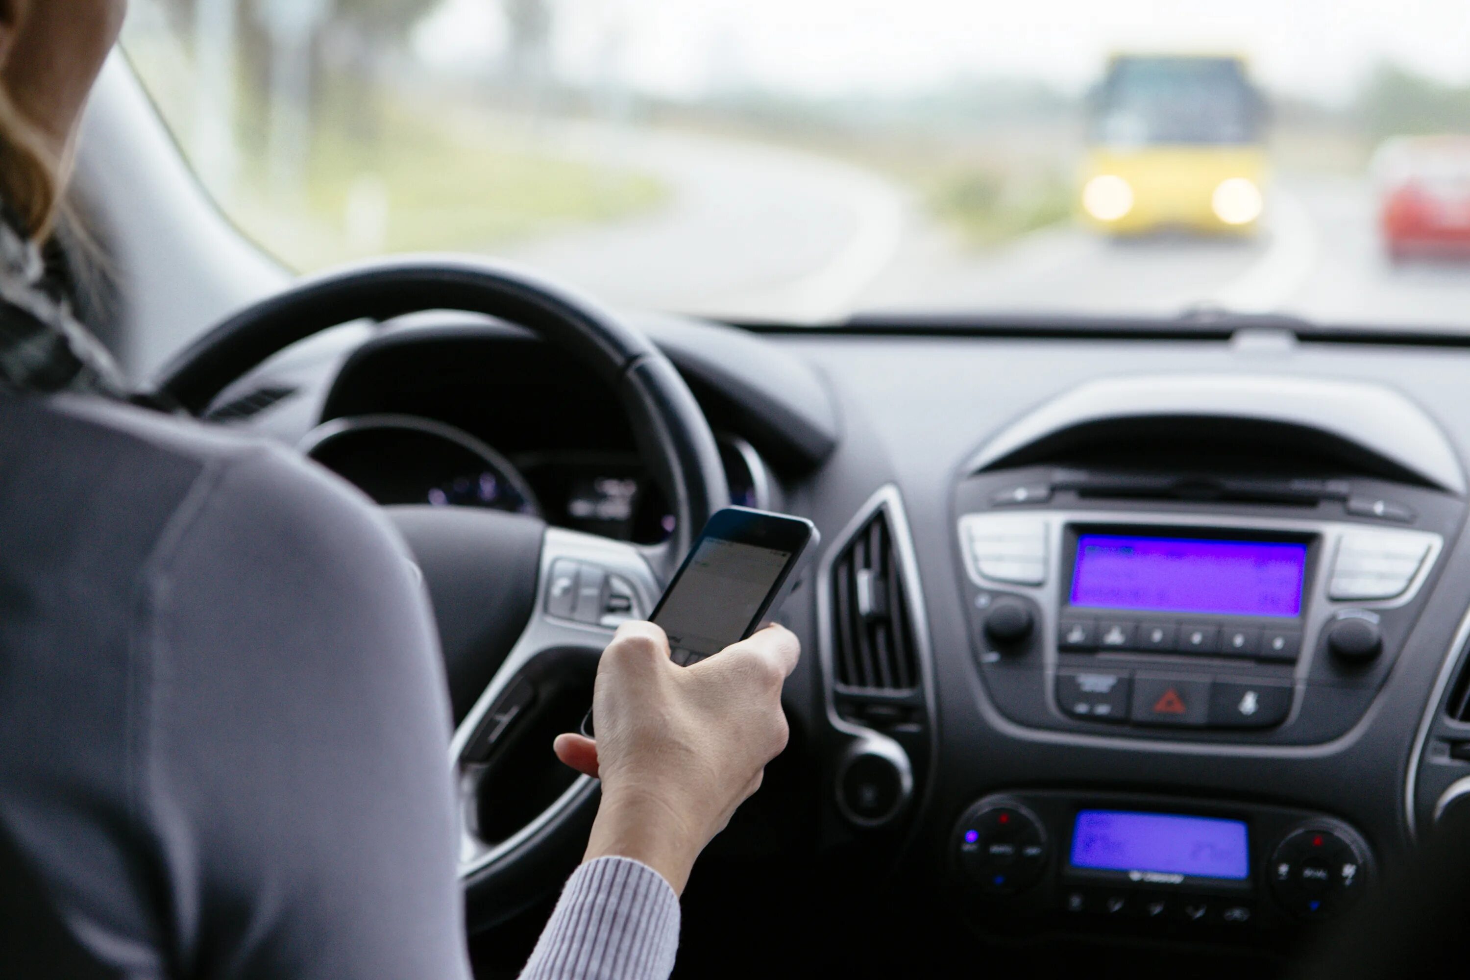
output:
[[[1351,325],[1470,328],[1470,264],[1394,266],[1361,181],[1285,178],[1247,241],[1110,241],[1055,226],[985,251],[913,194],[853,165],[695,134],[569,128],[562,148],[670,188],[651,215],[512,250],[604,300],[735,319],[832,322],[856,310],[1170,316],[1191,306]]]

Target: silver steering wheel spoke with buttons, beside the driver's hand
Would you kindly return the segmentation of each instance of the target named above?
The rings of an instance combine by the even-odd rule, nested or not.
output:
[[[463,880],[487,874],[526,842],[554,832],[556,824],[579,823],[578,811],[595,796],[595,782],[587,776],[509,837],[488,832],[482,790],[517,729],[528,727],[544,702],[560,693],[569,673],[589,677],[617,624],[647,617],[657,595],[659,580],[639,548],[560,527],[545,530],[526,627],[450,742]]]

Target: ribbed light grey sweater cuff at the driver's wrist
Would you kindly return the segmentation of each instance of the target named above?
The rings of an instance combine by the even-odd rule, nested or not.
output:
[[[632,858],[597,858],[566,882],[522,980],[663,980],[679,951],[679,898]]]

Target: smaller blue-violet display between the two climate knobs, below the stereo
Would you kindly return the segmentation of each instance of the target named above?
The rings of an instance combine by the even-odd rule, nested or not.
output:
[[[1244,882],[1251,849],[1239,820],[1083,810],[1072,835],[1072,867]]]

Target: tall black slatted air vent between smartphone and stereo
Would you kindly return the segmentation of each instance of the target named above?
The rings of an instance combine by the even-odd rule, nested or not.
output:
[[[888,514],[882,510],[832,564],[832,667],[848,692],[919,688],[913,623]]]

